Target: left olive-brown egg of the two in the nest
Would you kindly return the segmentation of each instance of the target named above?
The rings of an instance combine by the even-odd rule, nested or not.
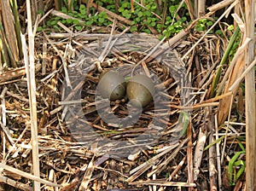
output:
[[[125,78],[115,71],[102,72],[97,85],[102,97],[110,101],[122,99],[125,96]]]

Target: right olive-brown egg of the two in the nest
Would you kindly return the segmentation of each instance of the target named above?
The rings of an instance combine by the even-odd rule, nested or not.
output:
[[[126,95],[135,107],[145,107],[154,96],[154,83],[151,78],[139,74],[127,83]]]

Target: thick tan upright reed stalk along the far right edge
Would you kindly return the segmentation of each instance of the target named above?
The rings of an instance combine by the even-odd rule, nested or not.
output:
[[[254,6],[255,2],[245,0],[246,36],[251,38],[245,53],[245,66],[248,67],[254,59]],[[245,77],[246,85],[246,188],[256,188],[256,107],[255,107],[255,71],[252,68]]]

